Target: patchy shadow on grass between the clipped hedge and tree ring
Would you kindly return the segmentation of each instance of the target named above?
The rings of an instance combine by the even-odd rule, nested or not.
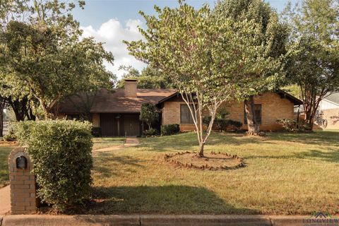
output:
[[[117,175],[119,171],[115,169],[124,166],[125,171],[135,172],[131,167],[143,167],[140,165],[143,160],[127,155],[115,155],[112,152],[97,152],[93,156],[94,168],[93,173],[98,174],[98,177],[112,177]]]

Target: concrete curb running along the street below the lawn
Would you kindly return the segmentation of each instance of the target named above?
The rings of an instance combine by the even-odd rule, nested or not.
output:
[[[304,226],[308,218],[300,215],[5,215],[0,226]]]

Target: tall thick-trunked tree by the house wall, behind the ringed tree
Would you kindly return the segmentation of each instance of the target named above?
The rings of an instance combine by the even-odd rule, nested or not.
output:
[[[213,14],[220,20],[229,18],[237,21],[251,20],[255,23],[254,29],[257,32],[258,44],[262,44],[265,49],[263,55],[258,54],[257,57],[271,58],[277,64],[283,61],[289,32],[287,25],[280,23],[278,14],[268,3],[263,0],[218,0]],[[256,64],[255,60],[246,62],[246,66],[255,66]],[[272,75],[277,72],[279,75],[275,76],[275,79],[271,79]],[[248,76],[251,76],[251,81],[243,84],[244,107],[249,133],[257,134],[260,131],[260,125],[255,117],[254,95],[260,95],[277,88],[280,81],[283,81],[285,73],[281,68],[268,67],[263,71],[253,71]]]

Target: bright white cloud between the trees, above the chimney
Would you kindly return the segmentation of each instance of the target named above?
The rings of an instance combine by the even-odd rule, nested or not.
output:
[[[94,37],[97,42],[105,43],[105,49],[114,55],[114,65],[105,64],[105,66],[109,71],[115,73],[118,78],[121,78],[124,71],[118,70],[120,65],[131,65],[138,70],[145,67],[145,64],[129,55],[126,44],[122,43],[122,40],[132,41],[143,39],[141,33],[138,31],[138,26],[141,25],[141,20],[127,20],[123,26],[117,18],[113,18],[102,23],[97,30],[92,26],[81,27],[81,29],[83,30],[83,37]]]

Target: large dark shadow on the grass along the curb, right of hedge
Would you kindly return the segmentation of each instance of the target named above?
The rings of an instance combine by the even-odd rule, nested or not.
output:
[[[89,214],[256,214],[258,210],[236,208],[213,191],[196,186],[95,187]]]

